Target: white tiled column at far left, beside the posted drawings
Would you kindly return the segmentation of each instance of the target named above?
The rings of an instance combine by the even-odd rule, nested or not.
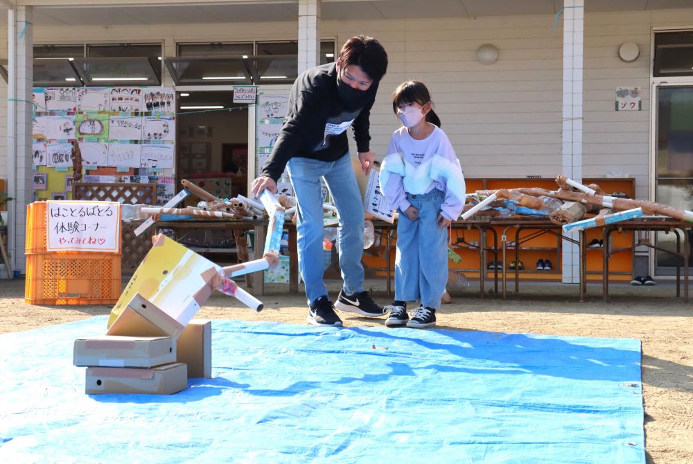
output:
[[[31,119],[33,114],[33,8],[8,10],[8,203],[12,265],[24,272],[26,205],[33,201]]]

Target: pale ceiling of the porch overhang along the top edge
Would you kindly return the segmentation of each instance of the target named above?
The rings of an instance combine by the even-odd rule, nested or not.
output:
[[[692,8],[692,0],[586,0],[586,13]],[[553,15],[563,0],[323,0],[324,21]],[[191,6],[35,7],[35,26],[296,21],[297,2]]]

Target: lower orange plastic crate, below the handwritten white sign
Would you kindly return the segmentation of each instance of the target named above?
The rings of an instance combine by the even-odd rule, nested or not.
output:
[[[24,299],[29,304],[114,304],[121,289],[121,255],[26,255]]]

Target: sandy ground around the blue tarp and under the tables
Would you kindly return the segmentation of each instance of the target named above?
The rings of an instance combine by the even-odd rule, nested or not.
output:
[[[123,282],[127,282],[123,278]],[[374,299],[389,299],[383,281],[367,282]],[[330,284],[335,298],[339,282]],[[439,312],[438,327],[638,338],[642,341],[642,382],[648,463],[693,463],[693,306],[674,298],[672,284],[633,287],[612,285],[611,302],[599,298],[601,287],[588,289],[589,300],[580,303],[577,286],[523,284],[508,300],[489,293],[479,298],[474,284]],[[693,292],[692,292],[693,298]],[[305,298],[290,295],[283,286],[268,286],[261,297],[265,310],[254,313],[234,298],[217,293],[198,313],[209,319],[240,319],[306,323]],[[24,303],[24,280],[0,280],[0,334],[107,314],[110,307],[47,307]],[[383,320],[342,313],[345,326],[382,325]]]

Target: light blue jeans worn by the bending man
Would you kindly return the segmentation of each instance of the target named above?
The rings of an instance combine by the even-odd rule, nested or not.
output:
[[[321,177],[325,179],[339,215],[340,268],[344,292],[351,295],[363,291],[363,202],[349,153],[333,162],[292,158],[288,171],[297,199],[299,271],[306,284],[308,304],[327,295],[323,281],[322,239],[325,232]]]

